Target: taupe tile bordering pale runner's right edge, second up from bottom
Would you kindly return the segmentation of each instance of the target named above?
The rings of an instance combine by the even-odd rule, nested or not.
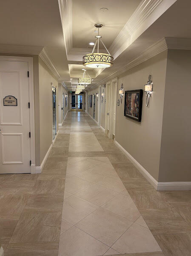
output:
[[[189,233],[191,226],[173,208],[140,209],[154,235]]]

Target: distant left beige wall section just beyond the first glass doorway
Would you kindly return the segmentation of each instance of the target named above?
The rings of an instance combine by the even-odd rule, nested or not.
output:
[[[63,94],[64,94],[64,103],[63,103]],[[66,116],[68,112],[68,100],[69,97],[67,97],[67,106],[65,102],[65,95],[68,95],[68,91],[62,84],[58,84],[58,123],[62,124],[63,122],[63,111],[64,111],[64,116]],[[63,108],[63,109],[62,109]]]

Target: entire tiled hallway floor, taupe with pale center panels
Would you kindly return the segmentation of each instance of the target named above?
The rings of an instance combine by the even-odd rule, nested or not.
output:
[[[190,256],[191,191],[155,191],[68,112],[41,174],[0,175],[0,244],[5,256]]]

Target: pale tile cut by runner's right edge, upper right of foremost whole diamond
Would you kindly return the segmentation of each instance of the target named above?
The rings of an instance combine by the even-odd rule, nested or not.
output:
[[[114,212],[133,222],[140,217],[140,212],[131,197],[124,196],[123,194],[118,194],[105,203],[102,208],[107,209],[110,212]]]

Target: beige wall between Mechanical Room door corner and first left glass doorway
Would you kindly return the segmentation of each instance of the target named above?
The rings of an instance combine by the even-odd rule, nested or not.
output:
[[[51,82],[58,89],[57,79],[51,74],[46,64],[39,58],[39,102],[40,102],[40,163],[52,143],[52,96]],[[58,95],[58,90],[57,90]],[[58,97],[57,97],[58,99]],[[58,129],[58,100],[57,100]]]

